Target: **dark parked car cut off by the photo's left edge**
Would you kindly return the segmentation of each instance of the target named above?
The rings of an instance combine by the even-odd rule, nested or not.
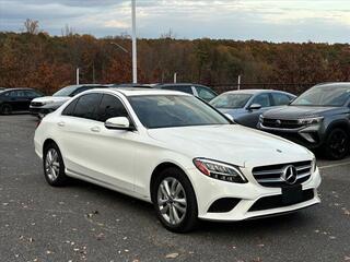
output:
[[[33,99],[44,94],[33,88],[8,88],[0,92],[0,114],[27,111]]]

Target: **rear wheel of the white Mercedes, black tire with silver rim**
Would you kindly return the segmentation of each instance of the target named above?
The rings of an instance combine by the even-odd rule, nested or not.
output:
[[[68,182],[62,155],[55,143],[44,150],[43,168],[46,181],[52,187],[62,187]]]

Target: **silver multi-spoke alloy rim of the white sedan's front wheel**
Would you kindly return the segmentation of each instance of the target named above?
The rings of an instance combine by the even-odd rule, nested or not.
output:
[[[158,189],[158,205],[162,217],[171,225],[180,224],[187,212],[186,192],[173,177],[162,180]]]

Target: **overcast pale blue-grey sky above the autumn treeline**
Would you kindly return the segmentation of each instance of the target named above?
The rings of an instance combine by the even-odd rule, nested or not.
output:
[[[350,0],[137,0],[139,37],[172,28],[177,38],[350,41]],[[25,19],[61,35],[65,25],[97,37],[130,33],[130,0],[0,0],[0,31]]]

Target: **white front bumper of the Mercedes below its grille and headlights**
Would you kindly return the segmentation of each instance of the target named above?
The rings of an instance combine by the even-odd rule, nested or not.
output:
[[[271,209],[266,207],[258,210],[254,207],[258,203],[257,201],[264,198],[268,199],[269,196],[278,199],[282,195],[282,189],[262,187],[258,182],[252,181],[250,178],[248,178],[248,183],[232,183],[206,177],[197,169],[191,169],[190,172],[196,180],[194,188],[198,202],[198,217],[201,219],[223,222],[244,221],[284,214],[320,203],[320,199],[317,195],[317,188],[322,180],[318,169],[307,181],[302,183],[303,192],[313,192],[312,198],[291,205],[275,205],[275,207]],[[228,212],[209,212],[215,201],[226,198],[238,199],[240,201]]]

